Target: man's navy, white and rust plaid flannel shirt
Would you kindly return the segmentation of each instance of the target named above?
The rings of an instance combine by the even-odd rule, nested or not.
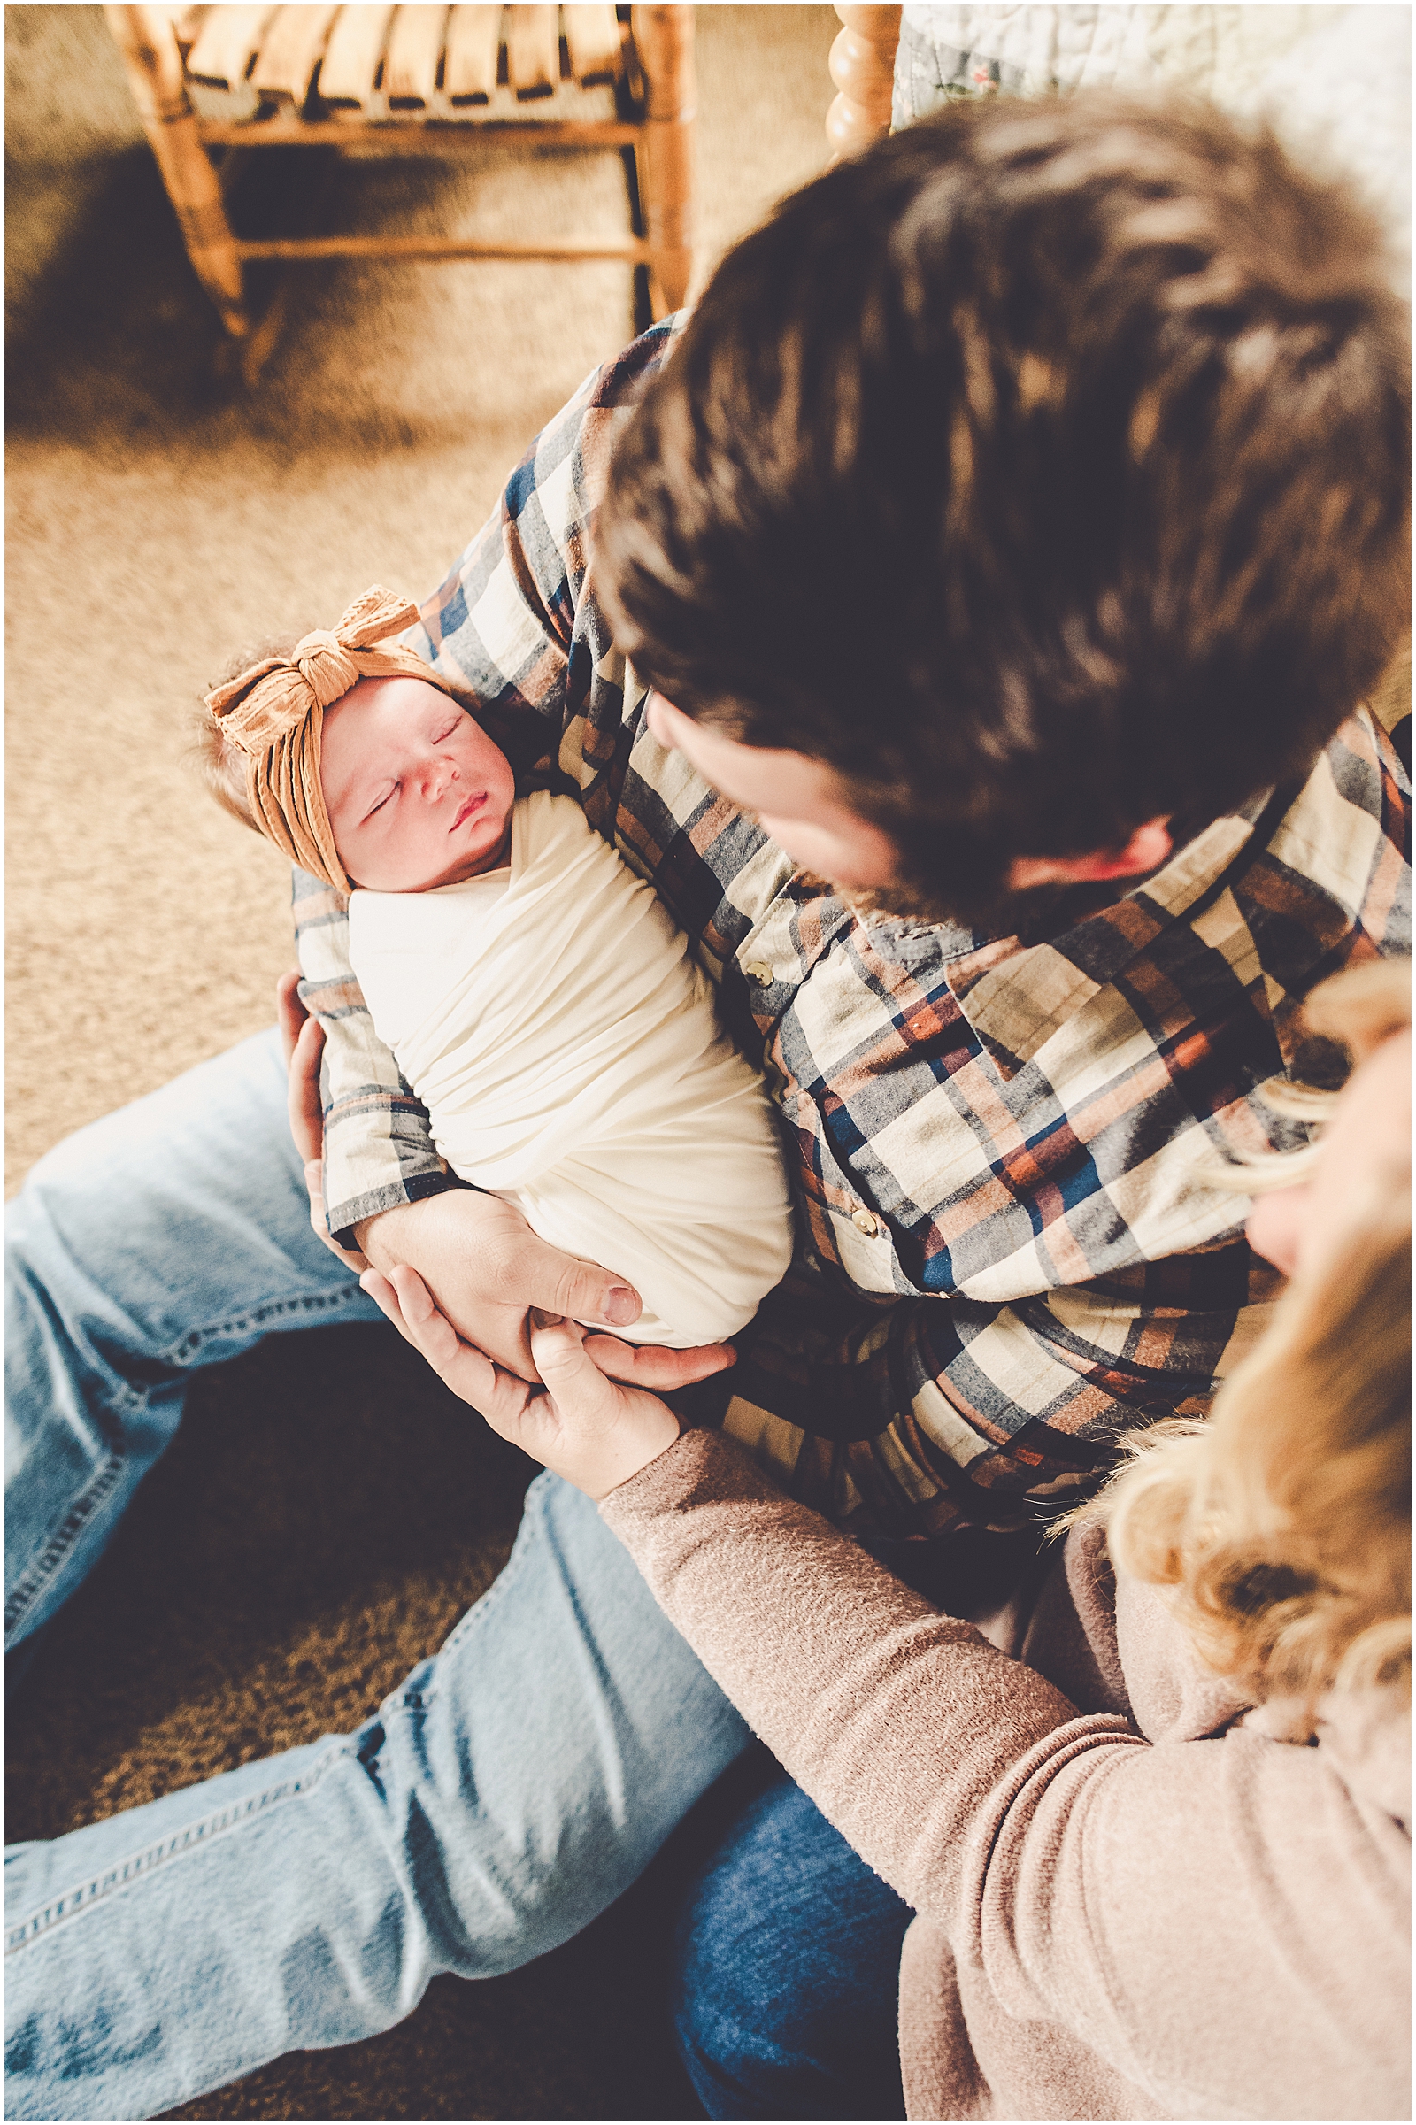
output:
[[[1018,1526],[1095,1485],[1127,1426],[1201,1413],[1261,1332],[1278,1279],[1203,1169],[1303,1141],[1259,1096],[1295,1060],[1295,999],[1410,950],[1410,788],[1361,712],[1301,790],[1110,905],[1072,897],[1044,939],[857,918],[655,742],[595,597],[595,499],[668,344],[544,429],[419,646],[519,786],[574,790],[653,882],[778,1099],[797,1264],[723,1375],[727,1428],[859,1532]],[[372,1033],[342,903],[298,878],[296,912],[349,1232],[457,1182]]]

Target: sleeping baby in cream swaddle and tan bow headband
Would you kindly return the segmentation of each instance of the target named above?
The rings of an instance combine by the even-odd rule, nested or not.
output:
[[[517,797],[451,684],[366,591],[206,695],[227,810],[349,895],[378,1039],[449,1167],[636,1286],[629,1339],[719,1343],[791,1260],[761,1077],[682,933],[574,797]]]

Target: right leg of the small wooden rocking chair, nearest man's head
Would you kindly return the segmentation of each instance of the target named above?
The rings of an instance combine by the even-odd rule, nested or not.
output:
[[[629,17],[648,115],[636,142],[655,317],[682,308],[693,276],[697,187],[693,170],[693,8],[636,6]]]

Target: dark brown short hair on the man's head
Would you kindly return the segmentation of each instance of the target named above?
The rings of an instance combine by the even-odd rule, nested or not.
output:
[[[942,113],[719,268],[600,510],[678,708],[836,765],[959,910],[1303,776],[1405,627],[1405,329],[1269,134]]]

